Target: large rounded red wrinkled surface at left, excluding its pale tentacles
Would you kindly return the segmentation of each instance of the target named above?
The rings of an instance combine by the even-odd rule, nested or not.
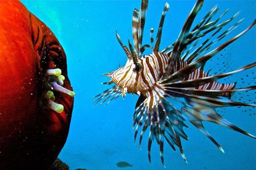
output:
[[[54,92],[64,106],[60,114],[40,105],[49,68],[60,68],[72,90],[51,30],[22,3],[0,1],[0,169],[46,169],[64,146],[73,98]]]

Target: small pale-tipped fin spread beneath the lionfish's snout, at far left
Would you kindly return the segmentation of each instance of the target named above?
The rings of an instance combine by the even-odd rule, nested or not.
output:
[[[118,88],[118,86],[113,86],[113,88],[105,90],[104,92],[94,96],[93,98],[97,98],[93,103],[97,104],[101,101],[101,105],[106,103],[108,105],[113,100],[117,99],[119,96],[122,96],[122,89]]]

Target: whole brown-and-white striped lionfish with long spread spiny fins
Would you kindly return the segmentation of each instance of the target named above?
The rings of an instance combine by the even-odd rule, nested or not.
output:
[[[142,1],[141,10],[134,9],[133,11],[132,32],[134,45],[129,40],[129,48],[123,45],[120,36],[116,32],[117,40],[126,53],[127,62],[124,67],[104,74],[104,76],[110,77],[111,80],[103,84],[115,85],[113,88],[95,96],[97,99],[94,103],[101,102],[101,104],[108,104],[119,96],[125,97],[126,93],[138,94],[139,98],[133,114],[133,127],[136,126],[134,142],[139,129],[141,129],[139,136],[139,147],[141,147],[143,134],[147,128],[150,129],[148,137],[148,160],[150,163],[150,150],[152,140],[154,139],[160,147],[160,159],[163,165],[164,139],[173,150],[175,150],[174,146],[176,145],[179,148],[181,156],[187,162],[180,139],[188,140],[188,136],[183,131],[183,127],[188,127],[185,125],[185,119],[188,119],[193,126],[203,132],[222,152],[224,150],[220,144],[205,130],[203,121],[213,122],[241,132],[251,138],[256,138],[254,135],[249,134],[222,118],[216,111],[218,107],[255,107],[254,104],[236,102],[231,99],[231,96],[235,92],[255,90],[255,85],[236,88],[236,82],[221,83],[218,82],[218,79],[253,68],[256,63],[245,65],[227,73],[210,75],[209,72],[204,71],[207,61],[249,31],[256,21],[254,20],[249,27],[237,36],[214,48],[212,51],[207,52],[213,44],[216,44],[233,31],[242,22],[242,19],[228,29],[221,31],[226,24],[236,18],[238,13],[230,19],[219,23],[228,10],[218,16],[216,20],[212,20],[218,11],[218,7],[214,6],[191,29],[193,20],[203,6],[203,2],[203,0],[196,1],[176,42],[164,48],[162,51],[159,51],[159,44],[162,38],[164,18],[169,9],[168,3],[164,6],[160,18],[155,45],[153,45],[153,28],[150,30],[151,44],[142,45],[145,16],[148,6],[147,0]],[[217,38],[212,40],[214,36]],[[207,37],[207,39],[196,46],[198,40],[204,37]],[[151,48],[152,53],[150,55],[143,55],[143,52],[147,48]],[[178,107],[179,105],[181,107]]]

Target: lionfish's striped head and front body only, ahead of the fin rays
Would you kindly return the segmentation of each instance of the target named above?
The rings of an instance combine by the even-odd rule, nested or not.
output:
[[[133,61],[127,60],[125,67],[117,69],[109,76],[119,88],[127,88],[128,93],[139,92],[147,96],[148,90],[151,90],[163,75],[167,61],[168,56],[164,53],[144,55],[140,59],[142,64],[140,72],[135,72]]]

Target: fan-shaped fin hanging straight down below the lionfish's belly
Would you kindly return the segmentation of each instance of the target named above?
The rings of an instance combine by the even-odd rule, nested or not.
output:
[[[148,160],[151,162],[151,144],[156,139],[160,150],[160,159],[164,165],[163,144],[164,139],[175,150],[175,145],[179,147],[183,159],[186,161],[183,148],[181,146],[181,138],[188,140],[187,135],[183,131],[185,119],[181,117],[181,112],[176,109],[166,98],[156,96],[157,93],[152,92],[152,96],[140,96],[134,112],[135,127],[134,140],[137,138],[138,130],[143,125],[139,137],[139,147],[141,147],[144,132],[150,127],[148,136]]]

